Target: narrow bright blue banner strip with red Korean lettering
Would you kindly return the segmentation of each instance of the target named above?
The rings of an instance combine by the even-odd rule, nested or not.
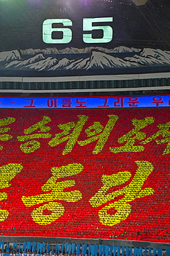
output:
[[[123,97],[63,97],[63,98],[0,98],[1,109],[8,108],[133,108],[169,107],[170,95],[123,96]]]

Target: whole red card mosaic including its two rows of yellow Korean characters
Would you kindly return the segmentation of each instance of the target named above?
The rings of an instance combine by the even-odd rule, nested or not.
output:
[[[3,236],[169,241],[169,108],[1,109]]]

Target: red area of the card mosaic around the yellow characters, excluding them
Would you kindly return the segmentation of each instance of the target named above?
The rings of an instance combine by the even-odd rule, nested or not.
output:
[[[85,140],[84,130],[93,125],[93,122],[101,122],[105,127],[108,122],[107,115],[117,115],[119,119],[111,131],[110,136],[104,145],[102,152],[93,155],[93,149],[97,141],[84,147],[77,143],[72,152],[62,155],[66,142],[50,147],[49,138],[37,139],[41,142],[41,147],[31,154],[21,152],[19,148],[21,143],[17,141],[17,136],[23,136],[23,129],[34,125],[42,119],[42,116],[49,116],[51,122],[50,132],[54,135],[62,132],[57,125],[66,122],[77,122],[77,115],[86,115],[88,120],[82,129],[78,140]],[[11,125],[8,134],[12,135],[9,141],[0,141],[3,145],[1,150],[1,166],[8,163],[20,163],[23,170],[10,182],[9,188],[4,188],[1,192],[8,193],[8,199],[0,201],[1,209],[10,212],[8,218],[0,223],[0,235],[4,236],[35,236],[35,237],[78,237],[78,238],[102,238],[102,239],[128,239],[128,240],[146,240],[146,241],[164,241],[169,242],[169,154],[162,155],[166,143],[157,145],[151,141],[144,145],[143,152],[122,152],[113,154],[109,147],[120,147],[123,144],[117,143],[117,139],[133,129],[131,120],[133,118],[142,119],[152,116],[155,118],[153,124],[145,127],[141,131],[147,134],[147,137],[158,131],[158,124],[169,122],[169,109],[91,109],[91,110],[37,110],[37,109],[1,109],[1,118],[13,117],[16,121]],[[38,130],[37,130],[38,131]],[[32,134],[37,134],[34,131]],[[146,137],[146,138],[147,138]],[[162,138],[160,136],[160,138]],[[136,141],[135,145],[140,145]],[[131,204],[131,214],[119,224],[108,227],[103,226],[98,217],[99,208],[92,208],[89,203],[91,196],[101,188],[102,174],[111,175],[120,171],[129,171],[133,175],[137,170],[135,161],[149,161],[154,170],[144,182],[142,188],[153,188],[155,193],[151,196],[144,196],[141,199],[135,199]],[[79,190],[82,192],[82,199],[76,203],[62,202],[64,205],[64,215],[55,222],[40,226],[32,221],[31,212],[34,207],[26,207],[21,201],[21,196],[32,196],[43,194],[41,186],[50,178],[51,167],[61,167],[69,163],[81,163],[84,170],[69,177],[69,180],[75,180],[73,188],[66,191]],[[68,180],[63,178],[61,181]],[[127,181],[125,185],[129,184]],[[113,188],[118,190],[123,185]],[[111,190],[111,191],[113,191]],[[35,206],[37,208],[39,205]],[[114,210],[109,211],[114,214]]]

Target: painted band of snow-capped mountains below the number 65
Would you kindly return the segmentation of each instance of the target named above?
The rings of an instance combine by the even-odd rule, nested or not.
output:
[[[153,48],[46,48],[0,53],[1,76],[104,75],[169,69],[170,51]]]

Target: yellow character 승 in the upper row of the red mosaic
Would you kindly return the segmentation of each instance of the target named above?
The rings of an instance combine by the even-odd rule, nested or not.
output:
[[[50,118],[48,116],[43,116],[42,120],[35,123],[35,125],[32,125],[31,127],[28,127],[27,129],[24,129],[24,134],[30,134],[30,135],[24,135],[24,136],[17,136],[17,140],[19,141],[28,141],[27,143],[21,144],[20,149],[22,152],[30,154],[32,152],[35,152],[35,150],[39,149],[41,144],[37,140],[32,140],[32,138],[50,138],[52,135],[46,131],[50,131],[49,126],[45,126],[48,122],[50,122]],[[39,129],[37,134],[32,134],[33,131]]]

